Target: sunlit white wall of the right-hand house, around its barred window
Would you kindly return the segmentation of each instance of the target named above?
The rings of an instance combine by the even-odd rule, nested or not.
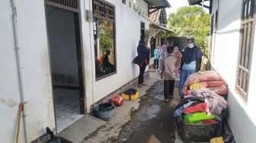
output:
[[[213,12],[218,6],[213,1]],[[238,62],[240,17],[242,14],[242,2],[240,0],[219,1],[219,18],[216,32],[215,46],[213,49],[213,68],[226,78],[229,84],[229,126],[235,135],[236,142],[251,142],[256,136],[256,105],[254,101],[253,87],[256,86],[256,52],[254,50],[251,62],[251,80],[248,92],[248,102],[235,91],[236,69]],[[254,37],[254,46],[256,46]]]

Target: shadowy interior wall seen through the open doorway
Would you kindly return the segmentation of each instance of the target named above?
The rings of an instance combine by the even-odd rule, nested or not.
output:
[[[46,7],[54,85],[78,86],[74,13]]]

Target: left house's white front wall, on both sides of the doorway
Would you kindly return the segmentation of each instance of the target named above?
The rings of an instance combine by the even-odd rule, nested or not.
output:
[[[21,58],[21,78],[24,85],[24,106],[27,121],[27,141],[34,141],[45,133],[45,127],[55,128],[53,93],[50,75],[50,52],[46,33],[44,1],[16,1],[18,14],[18,41]],[[94,46],[92,23],[85,21],[85,10],[91,9],[91,1],[81,1],[82,17],[82,58],[85,69],[86,105],[117,90],[139,75],[139,68],[133,65],[139,43],[140,22],[149,29],[149,21],[136,11],[123,5],[119,0],[108,1],[116,8],[116,52],[117,74],[95,81]],[[2,141],[13,142],[17,121],[18,103],[21,97],[18,88],[18,70],[15,61],[14,36],[12,27],[11,3],[0,3],[2,27],[0,41],[2,49],[0,61],[0,135]],[[24,142],[24,129],[21,126],[21,139]]]

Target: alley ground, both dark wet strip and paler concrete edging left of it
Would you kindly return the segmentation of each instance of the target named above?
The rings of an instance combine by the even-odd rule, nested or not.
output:
[[[139,100],[125,100],[122,106],[117,107],[115,115],[96,132],[85,137],[83,142],[174,142],[178,82],[175,84],[174,98],[170,103],[165,103],[160,76],[150,72],[149,77],[146,81],[149,87],[139,90]]]

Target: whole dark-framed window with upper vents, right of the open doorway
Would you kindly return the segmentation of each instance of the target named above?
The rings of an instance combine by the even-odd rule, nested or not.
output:
[[[94,58],[96,78],[116,72],[114,6],[94,0]]]

